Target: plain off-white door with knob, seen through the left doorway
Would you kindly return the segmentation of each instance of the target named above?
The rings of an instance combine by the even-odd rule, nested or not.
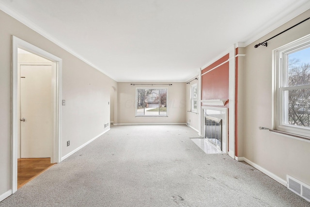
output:
[[[50,158],[53,138],[52,66],[20,66],[20,157]]]

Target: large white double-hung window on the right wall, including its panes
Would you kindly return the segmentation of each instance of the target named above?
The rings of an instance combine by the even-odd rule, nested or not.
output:
[[[310,35],[274,50],[275,128],[310,135]]]

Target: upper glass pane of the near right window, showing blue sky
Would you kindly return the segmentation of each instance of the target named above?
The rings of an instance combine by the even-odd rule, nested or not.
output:
[[[288,55],[287,86],[310,84],[310,48]]]

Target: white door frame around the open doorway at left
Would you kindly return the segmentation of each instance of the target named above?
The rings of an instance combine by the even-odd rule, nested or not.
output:
[[[61,162],[61,102],[62,102],[62,59],[38,48],[16,36],[12,36],[12,191],[15,193],[17,191],[17,158],[18,158],[18,126],[19,126],[19,116],[18,113],[18,95],[19,95],[19,71],[17,62],[17,48],[27,50],[35,55],[43,57],[55,64],[53,69],[56,72],[56,78],[53,80],[55,84],[54,93],[54,121],[53,121],[53,153],[51,157],[52,163]]]

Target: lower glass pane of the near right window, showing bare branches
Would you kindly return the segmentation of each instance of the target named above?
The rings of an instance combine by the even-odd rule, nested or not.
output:
[[[310,89],[284,91],[283,95],[284,123],[310,127]]]

